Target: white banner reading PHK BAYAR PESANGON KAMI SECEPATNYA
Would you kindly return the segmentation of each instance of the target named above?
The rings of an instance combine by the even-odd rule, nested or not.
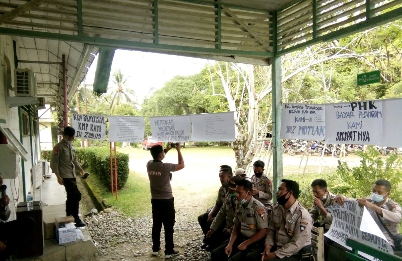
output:
[[[375,100],[327,105],[325,142],[380,145],[384,117],[382,103]]]

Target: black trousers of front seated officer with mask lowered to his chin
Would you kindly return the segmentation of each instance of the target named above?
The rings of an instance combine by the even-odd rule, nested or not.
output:
[[[260,240],[249,245],[246,249],[240,251],[237,247],[247,238],[239,236],[233,243],[232,253],[228,257],[225,253],[225,248],[228,246],[229,240],[226,240],[222,245],[211,252],[212,261],[259,261],[261,260],[261,252],[264,250],[264,241]],[[256,259],[256,257],[258,257]]]

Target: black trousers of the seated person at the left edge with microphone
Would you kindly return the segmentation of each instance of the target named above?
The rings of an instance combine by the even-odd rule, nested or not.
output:
[[[0,241],[6,245],[6,249],[0,251],[0,261],[16,253],[18,244],[21,244],[24,237],[29,236],[33,230],[34,223],[31,217],[0,223]]]

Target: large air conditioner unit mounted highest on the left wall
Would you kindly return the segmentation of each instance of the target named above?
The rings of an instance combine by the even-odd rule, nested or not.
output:
[[[14,69],[14,95],[16,97],[36,97],[35,74],[29,69]]]

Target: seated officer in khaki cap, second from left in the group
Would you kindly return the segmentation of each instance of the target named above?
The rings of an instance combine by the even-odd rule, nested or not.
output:
[[[236,175],[230,179],[228,183],[228,194],[224,201],[222,208],[219,210],[211,227],[205,236],[208,246],[205,248],[207,251],[212,251],[219,247],[225,240],[229,239],[233,230],[233,219],[236,212],[236,183],[243,178]],[[225,222],[226,220],[226,222]]]

